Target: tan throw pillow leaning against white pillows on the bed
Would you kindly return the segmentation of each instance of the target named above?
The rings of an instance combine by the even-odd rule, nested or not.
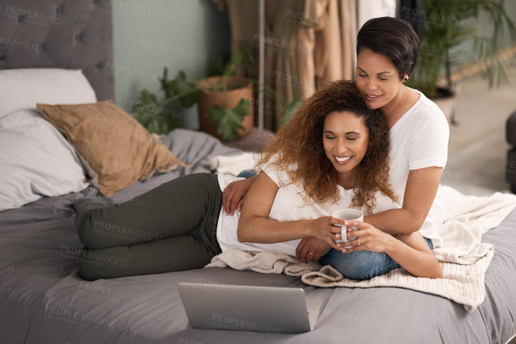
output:
[[[156,170],[188,166],[112,100],[90,104],[36,104],[67,135],[92,184],[110,196]]]

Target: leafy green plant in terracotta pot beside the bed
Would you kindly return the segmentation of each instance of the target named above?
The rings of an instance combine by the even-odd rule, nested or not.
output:
[[[156,109],[163,109],[166,104],[175,100],[179,100],[185,108],[198,103],[200,129],[223,141],[235,141],[248,135],[254,127],[254,112],[250,107],[250,100],[253,99],[253,86],[259,85],[255,79],[233,75],[239,63],[244,68],[254,63],[251,52],[244,45],[240,45],[239,54],[232,55],[225,65],[222,57],[215,57],[210,63],[209,74],[219,75],[197,83],[188,81],[183,71],[170,79],[167,76],[168,69],[164,67],[159,82],[161,89],[165,91],[165,100],[157,102],[153,93],[143,89],[138,97],[141,103],[133,106],[131,111],[136,113],[135,118],[151,133],[165,134],[179,127],[179,119],[170,116],[165,116],[165,119],[163,116],[156,118]],[[296,108],[300,104],[300,93],[286,104],[286,100],[270,87],[265,85],[264,90],[278,104],[284,105],[283,108]]]

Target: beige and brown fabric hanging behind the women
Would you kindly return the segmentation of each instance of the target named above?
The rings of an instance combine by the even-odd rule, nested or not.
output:
[[[298,92],[304,100],[330,81],[354,79],[357,0],[266,0],[264,37],[257,35],[257,1],[213,1],[228,9],[232,52],[244,43],[257,57],[265,44],[265,84],[286,102]],[[257,77],[257,64],[249,74]],[[265,128],[276,130],[285,110],[266,98]]]

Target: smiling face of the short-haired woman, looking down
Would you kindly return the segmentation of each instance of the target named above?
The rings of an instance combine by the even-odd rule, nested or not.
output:
[[[408,78],[409,75],[405,74]],[[388,57],[364,49],[357,56],[357,87],[370,109],[378,109],[401,97],[403,86]]]

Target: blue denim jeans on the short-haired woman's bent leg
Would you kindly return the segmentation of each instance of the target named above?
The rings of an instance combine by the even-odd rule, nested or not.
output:
[[[432,242],[425,238],[426,243],[432,249]],[[401,266],[384,252],[356,251],[343,253],[331,249],[320,257],[319,264],[331,265],[342,275],[351,280],[369,280],[375,276],[383,275]]]

